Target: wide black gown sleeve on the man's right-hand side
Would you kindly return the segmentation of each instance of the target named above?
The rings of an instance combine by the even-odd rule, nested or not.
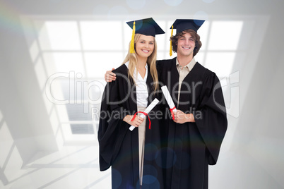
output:
[[[227,115],[220,81],[215,73],[206,75],[201,90],[201,104],[195,114],[196,126],[209,152],[209,164],[217,162],[227,130]],[[196,111],[196,112],[197,112]]]

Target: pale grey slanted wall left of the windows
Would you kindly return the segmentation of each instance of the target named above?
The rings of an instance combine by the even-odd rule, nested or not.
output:
[[[19,18],[14,19],[18,21]],[[1,149],[1,171],[6,175],[7,166],[12,164],[8,174],[13,175],[37,152],[54,152],[58,146],[23,31],[3,27],[0,30],[0,109],[3,115],[0,133],[6,136],[0,139],[1,147],[5,149]],[[6,145],[6,142],[12,145]],[[17,151],[16,158],[13,157],[14,150]]]

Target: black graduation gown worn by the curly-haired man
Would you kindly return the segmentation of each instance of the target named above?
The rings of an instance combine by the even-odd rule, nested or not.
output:
[[[167,85],[176,108],[194,114],[196,121],[179,124],[166,114],[165,188],[208,188],[208,164],[216,164],[227,130],[225,103],[218,77],[197,62],[182,82],[177,106],[177,100],[174,100],[177,99],[179,82],[176,58],[158,61],[157,66],[159,80]]]

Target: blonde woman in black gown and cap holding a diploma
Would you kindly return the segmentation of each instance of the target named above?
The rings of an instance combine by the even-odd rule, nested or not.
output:
[[[112,166],[112,188],[163,188],[159,120],[154,114],[145,119],[135,114],[159,95],[155,35],[165,32],[153,18],[127,24],[133,28],[129,53],[102,97],[100,171]],[[155,106],[151,112],[158,110]]]

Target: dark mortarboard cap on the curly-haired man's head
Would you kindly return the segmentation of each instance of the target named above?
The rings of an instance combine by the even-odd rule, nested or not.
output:
[[[172,24],[174,29],[177,29],[177,33],[182,32],[184,30],[194,30],[197,32],[201,25],[204,23],[205,20],[196,20],[196,19],[177,19]],[[172,28],[170,28],[172,29]]]

